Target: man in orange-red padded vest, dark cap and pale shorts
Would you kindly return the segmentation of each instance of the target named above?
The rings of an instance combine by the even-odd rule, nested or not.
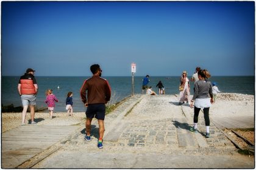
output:
[[[27,108],[30,107],[30,116],[31,116],[31,124],[36,124],[34,121],[35,117],[35,105],[37,104],[35,102],[36,95],[37,95],[37,81],[34,77],[35,70],[33,69],[27,69],[26,73],[24,73],[23,76],[20,77],[19,83],[18,83],[18,92],[21,97],[21,101],[23,104],[23,112],[22,112],[22,123],[21,125],[25,124],[26,114],[27,114]]]

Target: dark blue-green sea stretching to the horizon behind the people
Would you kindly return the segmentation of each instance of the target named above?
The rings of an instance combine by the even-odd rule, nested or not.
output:
[[[38,84],[37,107],[47,107],[45,91],[52,89],[59,102],[55,103],[54,112],[66,112],[65,101],[68,92],[73,92],[73,111],[85,112],[86,107],[80,100],[80,88],[84,81],[90,77],[35,77]],[[108,80],[112,89],[111,103],[114,104],[132,94],[132,76],[130,77],[102,77]],[[190,78],[190,77],[188,77]],[[13,104],[22,106],[18,94],[18,81],[20,77],[1,77],[1,105]],[[143,77],[134,76],[134,94],[141,94]],[[149,77],[148,86],[158,94],[158,81],[162,81],[165,94],[179,94],[180,77]],[[211,77],[221,92],[255,95],[255,77]],[[190,82],[191,95],[193,95],[194,82]],[[58,88],[59,87],[59,88]],[[144,91],[145,93],[145,91]],[[48,110],[44,110],[48,112]]]

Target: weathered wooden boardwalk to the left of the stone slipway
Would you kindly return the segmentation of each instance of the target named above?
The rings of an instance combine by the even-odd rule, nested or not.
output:
[[[2,134],[2,166],[16,168],[40,152],[57,143],[77,126],[19,126]]]

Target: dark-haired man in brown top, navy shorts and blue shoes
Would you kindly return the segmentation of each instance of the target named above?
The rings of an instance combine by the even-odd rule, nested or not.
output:
[[[93,73],[93,77],[85,80],[80,89],[80,96],[85,104],[85,107],[87,107],[85,112],[87,117],[85,122],[85,140],[91,140],[91,120],[93,120],[93,117],[95,116],[95,118],[98,119],[99,124],[98,148],[101,149],[103,148],[102,139],[105,131],[105,104],[107,104],[107,102],[110,100],[111,88],[108,81],[101,78],[102,70],[99,64],[93,64],[90,67],[90,70],[91,73]]]

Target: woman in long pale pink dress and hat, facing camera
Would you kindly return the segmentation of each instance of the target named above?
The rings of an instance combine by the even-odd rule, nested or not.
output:
[[[182,105],[187,101],[190,104],[190,80],[187,78],[187,72],[183,71],[182,76],[180,77],[180,96],[179,96],[179,105]]]

